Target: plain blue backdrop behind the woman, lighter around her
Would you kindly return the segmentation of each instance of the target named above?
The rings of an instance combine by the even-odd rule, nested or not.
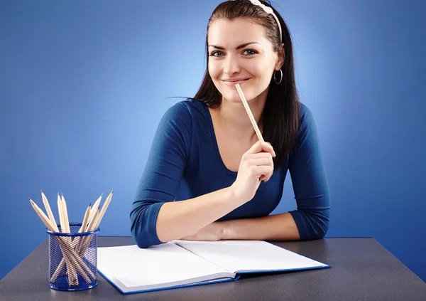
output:
[[[130,236],[156,126],[197,91],[219,4],[151,2],[0,1],[0,278],[47,238],[40,189],[77,222],[114,189],[101,233]],[[372,236],[426,280],[425,1],[274,3],[320,134],[327,236]],[[275,213],[293,208],[288,182]]]

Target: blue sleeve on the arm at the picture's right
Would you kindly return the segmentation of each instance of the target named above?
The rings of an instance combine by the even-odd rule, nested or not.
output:
[[[301,240],[323,238],[329,228],[330,197],[315,120],[310,110],[300,104],[301,125],[294,150],[290,152],[289,170],[297,202],[290,211]]]

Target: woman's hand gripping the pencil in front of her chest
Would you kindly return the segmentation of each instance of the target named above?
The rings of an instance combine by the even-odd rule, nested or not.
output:
[[[258,141],[243,154],[238,174],[231,188],[244,203],[253,199],[261,181],[267,182],[273,174],[275,152],[268,142]]]

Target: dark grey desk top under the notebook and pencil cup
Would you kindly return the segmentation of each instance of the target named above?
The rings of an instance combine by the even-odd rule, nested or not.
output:
[[[130,237],[99,237],[99,246],[131,244]],[[426,283],[373,238],[275,244],[333,267],[131,295],[98,273],[97,287],[60,292],[48,287],[46,240],[0,281],[0,300],[426,300]]]

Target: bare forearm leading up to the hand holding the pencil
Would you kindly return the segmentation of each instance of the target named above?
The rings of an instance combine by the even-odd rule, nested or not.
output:
[[[167,242],[192,235],[242,204],[244,201],[230,187],[194,199],[165,203],[158,212],[158,239]]]

